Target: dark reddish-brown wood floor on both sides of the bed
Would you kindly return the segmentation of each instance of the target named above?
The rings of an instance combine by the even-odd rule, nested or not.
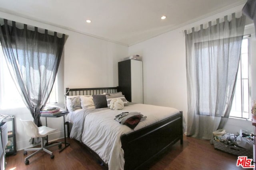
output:
[[[92,154],[84,149],[78,141],[68,139],[70,146],[62,152],[52,147],[55,158],[50,159],[47,153],[39,153],[30,158],[30,164],[24,164],[23,151],[15,156],[6,157],[6,170],[106,170],[100,166]],[[32,152],[28,152],[30,154]],[[184,137],[180,142],[152,162],[145,170],[240,170],[236,166],[237,156],[215,150],[209,141]]]

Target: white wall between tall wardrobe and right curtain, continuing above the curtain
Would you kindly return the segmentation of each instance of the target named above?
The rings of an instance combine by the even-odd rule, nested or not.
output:
[[[242,7],[237,6],[130,46],[129,56],[142,55],[144,104],[175,107],[183,111],[187,122],[186,49],[183,31],[239,12]],[[229,119],[224,128],[230,133],[236,133],[240,129],[253,132],[251,121],[238,119]]]

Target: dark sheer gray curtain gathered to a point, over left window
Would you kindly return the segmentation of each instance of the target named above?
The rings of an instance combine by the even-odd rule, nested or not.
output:
[[[19,25],[18,25],[19,24]],[[21,29],[18,28],[22,27]],[[4,19],[0,41],[8,68],[34,123],[42,126],[40,110],[45,106],[60,64],[65,35],[49,35]]]

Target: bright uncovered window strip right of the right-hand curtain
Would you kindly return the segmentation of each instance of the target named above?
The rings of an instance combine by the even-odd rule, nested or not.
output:
[[[250,90],[250,41],[249,36],[242,41],[241,59],[236,79],[236,91],[229,117],[251,119],[251,90]]]

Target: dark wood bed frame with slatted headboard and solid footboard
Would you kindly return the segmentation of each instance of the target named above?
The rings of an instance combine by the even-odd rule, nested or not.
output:
[[[118,92],[118,87],[110,88],[66,88],[67,96],[94,95]],[[121,136],[124,150],[124,169],[136,170],[144,167],[180,140],[183,144],[182,111],[162,121]],[[89,149],[87,146],[85,146]],[[89,149],[100,161],[102,159]],[[103,161],[102,161],[103,162]],[[103,162],[106,166],[106,163]]]

